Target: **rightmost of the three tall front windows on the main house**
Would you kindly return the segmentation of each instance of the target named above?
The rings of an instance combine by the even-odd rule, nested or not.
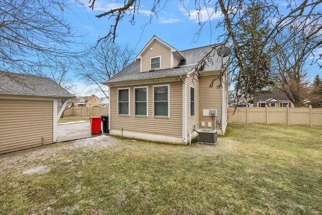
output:
[[[170,85],[153,86],[153,116],[170,117]]]

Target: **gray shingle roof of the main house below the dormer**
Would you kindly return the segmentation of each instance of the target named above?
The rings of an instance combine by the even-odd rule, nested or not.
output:
[[[185,57],[182,65],[180,67],[174,67],[169,69],[161,69],[156,71],[147,71],[144,73],[140,72],[140,61],[136,60],[124,67],[119,73],[115,76],[104,82],[103,84],[117,83],[117,82],[126,82],[126,81],[135,81],[135,80],[144,80],[144,79],[156,79],[156,78],[167,78],[173,76],[186,75],[192,71],[197,63],[209,53],[214,46],[209,45],[200,48],[188,49],[180,51],[180,53]],[[207,63],[202,67],[202,71],[217,70],[221,67],[221,57],[217,55],[216,49],[213,50],[210,54],[211,59],[207,60]],[[228,56],[223,58],[223,61],[228,60]]]

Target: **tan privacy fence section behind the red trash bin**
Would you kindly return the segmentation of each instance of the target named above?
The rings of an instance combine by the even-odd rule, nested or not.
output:
[[[72,107],[64,111],[64,116],[101,116],[109,114],[109,107]]]

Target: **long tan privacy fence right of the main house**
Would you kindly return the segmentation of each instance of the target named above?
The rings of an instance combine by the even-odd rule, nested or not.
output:
[[[228,123],[322,126],[321,108],[241,107],[228,109]]]

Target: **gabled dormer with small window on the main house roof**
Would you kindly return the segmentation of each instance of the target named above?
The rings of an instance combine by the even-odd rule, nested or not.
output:
[[[178,66],[185,57],[173,46],[156,36],[144,46],[135,60],[140,60],[140,71],[154,71]]]

